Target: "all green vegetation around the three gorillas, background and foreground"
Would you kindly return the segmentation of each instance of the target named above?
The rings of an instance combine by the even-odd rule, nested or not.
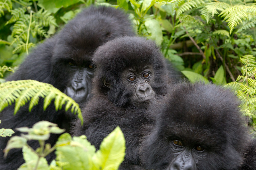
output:
[[[233,88],[256,131],[256,5],[251,0],[0,0],[0,77],[3,77],[0,89],[4,92],[0,96],[0,110],[15,100],[15,112],[29,100],[31,109],[42,97],[46,101],[44,107],[54,100],[56,110],[66,104],[66,110],[71,107],[72,112],[80,115],[78,105],[51,85],[3,82],[33,47],[53,36],[82,8],[91,4],[111,5],[127,11],[137,34],[160,45],[164,56],[190,81],[210,80]],[[53,124],[48,125],[48,128],[56,128]],[[0,136],[11,134],[11,131],[0,129]],[[63,134],[53,146],[57,150],[57,160],[50,166],[43,157],[51,146],[44,145],[43,140],[40,152],[26,145],[28,139],[16,137],[13,140],[23,141],[21,147],[26,163],[21,169],[29,169],[28,165],[33,169],[69,169],[71,166],[117,169],[120,164],[119,161],[101,162],[112,153],[106,150],[111,149],[110,145],[102,146],[100,152],[95,153],[95,148],[84,136],[71,138]],[[110,143],[116,141],[114,137],[108,140]],[[85,153],[84,148],[88,152]],[[68,158],[70,154],[81,152],[86,155],[83,162],[72,160],[71,156]],[[121,156],[118,160],[122,160]]]

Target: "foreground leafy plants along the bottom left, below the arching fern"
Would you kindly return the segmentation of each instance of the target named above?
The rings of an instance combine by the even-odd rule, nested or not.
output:
[[[25,163],[20,166],[21,170],[34,169],[84,169],[84,170],[116,170],[124,160],[125,139],[119,127],[103,139],[100,149],[96,151],[84,135],[71,137],[70,134],[62,134],[54,146],[45,144],[50,133],[60,134],[64,129],[59,129],[56,124],[41,121],[32,128],[17,128],[21,136],[14,136],[8,141],[4,149],[6,156],[11,149],[22,148]],[[27,143],[29,140],[38,140],[40,147],[33,150]],[[56,161],[50,166],[44,158],[56,149]]]

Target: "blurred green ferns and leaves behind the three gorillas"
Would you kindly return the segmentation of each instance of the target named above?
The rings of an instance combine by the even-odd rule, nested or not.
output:
[[[250,0],[0,0],[0,82],[91,4],[123,8],[190,81],[226,85],[256,127],[256,5]]]

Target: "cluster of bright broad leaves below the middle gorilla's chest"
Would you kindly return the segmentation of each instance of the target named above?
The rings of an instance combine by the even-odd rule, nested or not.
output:
[[[119,127],[107,136],[95,153],[85,136],[70,137],[63,134],[56,147],[57,163],[66,163],[64,169],[115,170],[124,159],[125,139]]]

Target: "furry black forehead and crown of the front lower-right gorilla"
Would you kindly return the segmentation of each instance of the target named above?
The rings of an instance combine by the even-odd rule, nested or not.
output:
[[[179,84],[167,98],[166,107],[158,110],[164,113],[159,124],[161,128],[176,129],[185,137],[190,134],[194,139],[206,139],[211,138],[209,134],[215,136],[220,133],[217,136],[224,138],[224,133],[231,135],[236,131],[235,127],[243,126],[244,119],[237,107],[239,101],[232,92],[217,85]],[[179,130],[177,124],[186,128]]]

